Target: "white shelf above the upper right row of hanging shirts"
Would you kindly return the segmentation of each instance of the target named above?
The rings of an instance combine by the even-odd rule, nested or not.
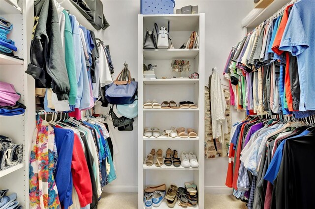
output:
[[[274,0],[264,10],[262,10],[246,27],[255,28],[271,15],[275,14],[281,7],[283,7],[290,0]]]

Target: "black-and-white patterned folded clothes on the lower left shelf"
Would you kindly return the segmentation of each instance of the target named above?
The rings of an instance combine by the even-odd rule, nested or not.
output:
[[[0,135],[0,170],[8,169],[22,161],[23,145],[14,144],[11,138]]]

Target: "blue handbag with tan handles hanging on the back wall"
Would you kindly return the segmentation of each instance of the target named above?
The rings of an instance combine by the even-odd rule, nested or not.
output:
[[[131,81],[130,71],[125,67],[113,83],[105,86],[105,98],[109,104],[132,104],[137,89],[138,82]]]

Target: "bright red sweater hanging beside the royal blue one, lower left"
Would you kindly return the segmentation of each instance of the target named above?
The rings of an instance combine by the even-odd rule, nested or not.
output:
[[[71,173],[73,185],[83,208],[92,203],[92,183],[87,161],[77,134],[74,134]]]

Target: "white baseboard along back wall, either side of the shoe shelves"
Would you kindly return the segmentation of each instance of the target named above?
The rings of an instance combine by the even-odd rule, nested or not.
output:
[[[106,185],[104,186],[103,192],[108,193],[137,193],[137,185]],[[205,193],[211,194],[232,194],[233,189],[226,186],[205,186]]]

